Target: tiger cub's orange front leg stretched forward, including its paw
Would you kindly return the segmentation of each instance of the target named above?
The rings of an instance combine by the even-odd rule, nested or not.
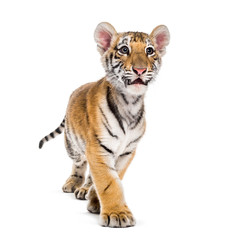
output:
[[[101,205],[100,224],[105,227],[130,227],[134,217],[126,205],[122,184],[114,168],[113,153],[105,146],[88,146],[87,159]]]

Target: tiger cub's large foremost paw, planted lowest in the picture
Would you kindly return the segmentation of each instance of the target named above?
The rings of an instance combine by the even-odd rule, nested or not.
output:
[[[130,211],[102,212],[100,215],[100,225],[103,227],[125,228],[135,224],[136,221]]]

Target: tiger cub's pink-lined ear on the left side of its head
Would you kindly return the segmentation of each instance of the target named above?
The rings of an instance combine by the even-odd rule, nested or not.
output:
[[[94,37],[97,43],[97,49],[101,55],[108,50],[112,37],[116,34],[117,32],[114,27],[107,22],[102,22],[97,25]]]

